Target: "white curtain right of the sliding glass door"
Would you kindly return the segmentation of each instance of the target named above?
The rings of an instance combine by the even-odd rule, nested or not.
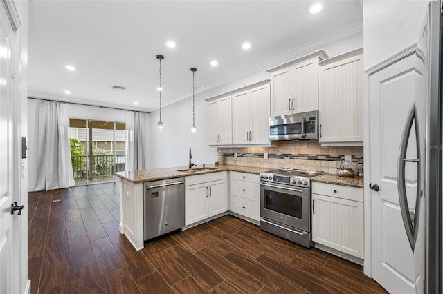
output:
[[[144,170],[147,156],[146,113],[125,112],[126,164],[125,171]]]

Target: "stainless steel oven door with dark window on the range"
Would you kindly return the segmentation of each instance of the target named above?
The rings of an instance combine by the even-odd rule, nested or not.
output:
[[[310,189],[260,182],[260,216],[311,231]]]

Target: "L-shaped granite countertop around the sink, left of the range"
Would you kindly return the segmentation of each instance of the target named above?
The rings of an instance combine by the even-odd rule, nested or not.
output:
[[[230,166],[230,165],[219,165],[214,166],[213,164],[206,165],[208,168],[214,168],[212,170],[198,170],[201,166],[197,166],[192,172],[180,172],[177,170],[188,169],[188,166],[179,166],[174,168],[155,168],[151,170],[134,170],[129,172],[118,172],[115,173],[118,177],[127,179],[129,182],[150,182],[159,179],[173,179],[175,177],[187,177],[190,175],[203,175],[206,173],[217,173],[220,171],[238,171],[242,173],[254,173],[260,174],[269,168],[255,168],[251,166]]]

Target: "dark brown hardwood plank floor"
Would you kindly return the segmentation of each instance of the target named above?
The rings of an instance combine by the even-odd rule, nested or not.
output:
[[[386,293],[361,266],[226,215],[135,251],[119,184],[29,193],[32,293]]]

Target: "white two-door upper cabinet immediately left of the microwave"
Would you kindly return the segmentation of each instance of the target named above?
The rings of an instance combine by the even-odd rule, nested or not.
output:
[[[233,94],[233,144],[269,144],[269,84]]]

